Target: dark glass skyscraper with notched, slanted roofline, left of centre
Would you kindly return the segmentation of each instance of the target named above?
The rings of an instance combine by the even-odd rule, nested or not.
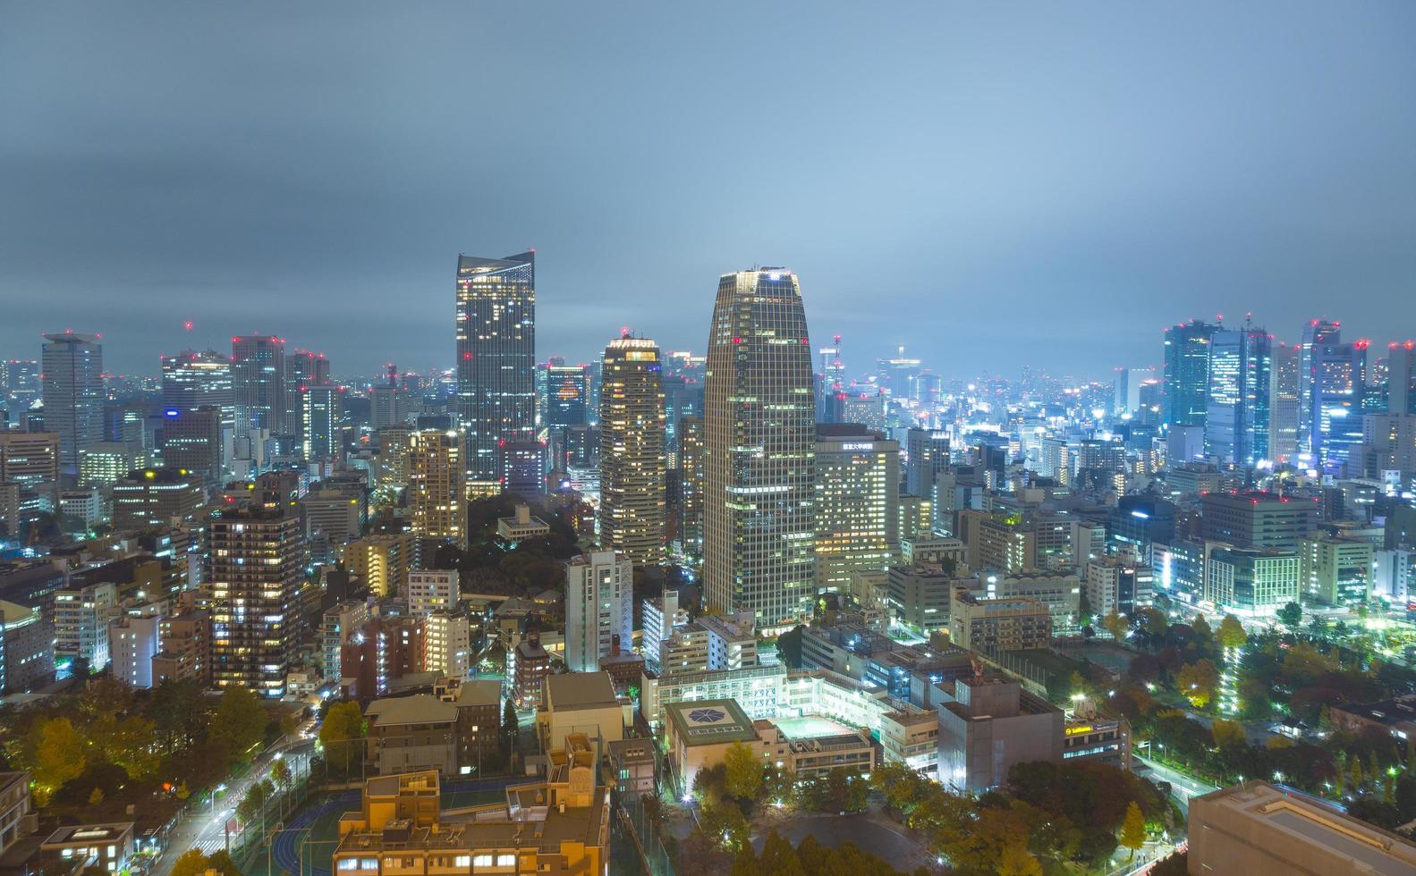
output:
[[[469,485],[494,490],[498,442],[535,437],[535,250],[457,256],[457,420]]]

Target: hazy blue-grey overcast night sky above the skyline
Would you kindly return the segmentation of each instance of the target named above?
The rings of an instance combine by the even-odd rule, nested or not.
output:
[[[0,357],[74,328],[156,372],[263,331],[449,367],[457,253],[527,246],[541,357],[702,351],[753,263],[852,372],[1103,376],[1245,310],[1385,347],[1413,37],[1409,0],[3,0]]]

